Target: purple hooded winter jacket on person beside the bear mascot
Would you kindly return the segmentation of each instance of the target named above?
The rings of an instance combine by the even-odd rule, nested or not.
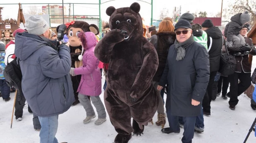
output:
[[[94,56],[94,49],[97,44],[95,34],[86,32],[87,49],[83,54],[83,66],[75,68],[75,75],[82,75],[77,92],[88,96],[99,96],[101,94],[101,73],[99,60]]]

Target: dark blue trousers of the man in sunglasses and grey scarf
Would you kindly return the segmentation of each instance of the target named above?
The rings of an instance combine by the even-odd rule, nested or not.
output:
[[[173,132],[180,132],[179,128],[179,116],[172,116],[171,111],[167,111],[167,118],[169,122],[170,130]],[[182,143],[192,143],[194,138],[194,128],[196,124],[196,117],[182,117],[184,122],[184,133],[181,139]]]

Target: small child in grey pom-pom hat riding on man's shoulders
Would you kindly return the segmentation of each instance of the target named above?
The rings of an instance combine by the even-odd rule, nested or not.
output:
[[[231,21],[226,25],[224,31],[228,47],[232,47],[233,44],[244,45],[244,37],[239,34],[239,31],[243,28],[244,24],[251,20],[249,12],[245,11],[244,13],[238,13],[232,16],[230,20]]]

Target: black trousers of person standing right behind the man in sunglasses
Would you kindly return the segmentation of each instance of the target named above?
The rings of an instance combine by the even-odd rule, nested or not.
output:
[[[217,71],[210,72],[210,79],[207,86],[207,92],[205,92],[205,96],[203,97],[203,103],[202,103],[203,110],[208,113],[210,113],[210,110],[211,110],[210,104],[213,96],[213,82],[216,74],[217,74]]]

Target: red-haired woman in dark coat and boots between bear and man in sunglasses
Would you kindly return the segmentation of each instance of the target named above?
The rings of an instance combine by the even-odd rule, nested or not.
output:
[[[174,41],[176,39],[176,34],[174,32],[174,26],[169,20],[163,20],[159,24],[159,30],[156,35],[153,35],[150,38],[150,42],[154,45],[158,60],[159,60],[159,66],[157,68],[157,72],[155,73],[155,76],[153,77],[153,84],[154,87],[157,88],[157,85],[159,83],[160,78],[162,77],[162,74],[164,72],[164,67],[167,60],[167,54],[169,47],[174,44]],[[160,91],[158,91],[159,99],[161,99]],[[164,128],[164,124],[166,123],[165,120],[165,114],[164,114],[164,102],[162,100],[159,100],[159,105],[157,108],[157,126],[162,126]]]

